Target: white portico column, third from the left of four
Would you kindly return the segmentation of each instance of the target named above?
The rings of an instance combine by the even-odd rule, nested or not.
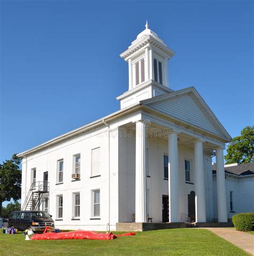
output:
[[[194,166],[195,166],[195,207],[196,222],[206,222],[205,212],[205,179],[204,179],[204,162],[203,162],[203,141],[197,140],[194,143]]]

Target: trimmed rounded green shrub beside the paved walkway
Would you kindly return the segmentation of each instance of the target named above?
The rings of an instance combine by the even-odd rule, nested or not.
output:
[[[254,228],[254,212],[236,214],[232,217],[236,230],[251,231]]]

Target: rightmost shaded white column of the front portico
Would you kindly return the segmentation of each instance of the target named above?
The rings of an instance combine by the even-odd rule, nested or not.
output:
[[[216,148],[218,221],[228,222],[223,148]]]

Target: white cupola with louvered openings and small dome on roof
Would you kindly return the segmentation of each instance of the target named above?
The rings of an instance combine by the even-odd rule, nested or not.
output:
[[[129,90],[117,97],[121,109],[172,91],[168,83],[168,60],[174,54],[146,22],[145,30],[120,55],[129,64]]]

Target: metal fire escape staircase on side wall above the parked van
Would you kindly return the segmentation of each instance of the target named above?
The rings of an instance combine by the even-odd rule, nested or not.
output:
[[[26,196],[22,210],[40,210],[42,195],[47,193],[49,193],[49,182],[33,182]]]

